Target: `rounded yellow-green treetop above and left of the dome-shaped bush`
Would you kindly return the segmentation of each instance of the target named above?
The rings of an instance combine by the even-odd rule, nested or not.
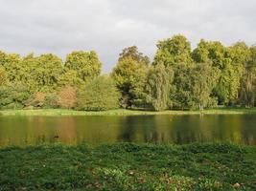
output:
[[[96,52],[72,52],[67,54],[65,68],[74,70],[83,81],[91,80],[101,74],[102,63]]]

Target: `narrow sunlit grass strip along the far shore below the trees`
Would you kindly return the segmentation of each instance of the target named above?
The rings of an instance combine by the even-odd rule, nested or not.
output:
[[[138,115],[228,115],[228,114],[256,114],[256,108],[218,108],[204,111],[137,111],[137,110],[110,110],[103,112],[83,112],[75,110],[48,109],[48,110],[5,110],[0,116],[138,116]]]

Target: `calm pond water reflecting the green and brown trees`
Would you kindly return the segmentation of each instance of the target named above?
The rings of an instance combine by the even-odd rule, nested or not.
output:
[[[46,142],[232,141],[256,145],[256,115],[0,117],[0,147]]]

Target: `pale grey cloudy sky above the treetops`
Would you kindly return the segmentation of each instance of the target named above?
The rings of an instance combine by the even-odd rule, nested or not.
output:
[[[0,0],[0,50],[95,50],[111,71],[123,48],[150,57],[158,40],[182,33],[230,45],[256,43],[255,0]]]

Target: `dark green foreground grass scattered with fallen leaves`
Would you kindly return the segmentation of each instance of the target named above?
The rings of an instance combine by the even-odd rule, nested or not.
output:
[[[256,147],[119,143],[0,150],[0,190],[255,190]]]

